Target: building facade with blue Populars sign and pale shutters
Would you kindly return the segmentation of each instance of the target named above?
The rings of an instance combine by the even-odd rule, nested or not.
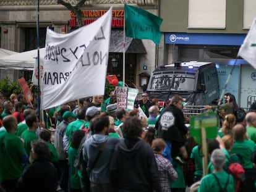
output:
[[[215,62],[220,93],[233,69],[237,53],[256,16],[254,0],[161,0],[163,38],[158,63],[176,61]],[[237,58],[225,92],[247,107],[247,97],[256,95],[256,70]]]

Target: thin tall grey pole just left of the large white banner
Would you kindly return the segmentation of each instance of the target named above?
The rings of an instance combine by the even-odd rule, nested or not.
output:
[[[38,118],[41,119],[41,101],[40,101],[40,34],[39,34],[39,0],[37,1],[37,19],[36,19],[36,34],[37,34],[37,72],[38,72],[38,90],[37,90],[37,107],[38,107]]]

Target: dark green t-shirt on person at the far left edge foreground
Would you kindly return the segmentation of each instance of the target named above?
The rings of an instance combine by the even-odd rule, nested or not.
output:
[[[27,156],[23,143],[16,135],[0,136],[0,181],[17,179],[22,175],[22,156]]]

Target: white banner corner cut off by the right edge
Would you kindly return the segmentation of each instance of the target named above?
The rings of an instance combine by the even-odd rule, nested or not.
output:
[[[250,26],[250,30],[239,49],[238,55],[249,62],[256,69],[256,17]]]

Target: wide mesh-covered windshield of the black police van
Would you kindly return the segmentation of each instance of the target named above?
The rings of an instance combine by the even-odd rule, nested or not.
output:
[[[148,90],[151,91],[194,91],[195,76],[194,75],[155,75],[151,78]]]

